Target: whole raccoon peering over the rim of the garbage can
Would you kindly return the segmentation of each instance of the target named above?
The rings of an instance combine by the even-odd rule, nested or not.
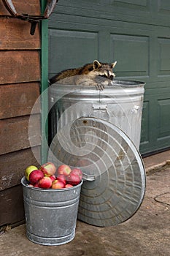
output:
[[[50,78],[50,85],[53,83],[69,84],[77,86],[96,86],[96,89],[102,90],[104,86],[112,84],[115,74],[112,69],[117,64],[101,63],[97,60],[92,64],[85,64],[77,69],[66,69]]]

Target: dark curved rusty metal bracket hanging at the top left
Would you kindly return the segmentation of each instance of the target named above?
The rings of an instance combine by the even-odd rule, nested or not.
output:
[[[47,0],[44,15],[28,15],[25,13],[18,14],[18,12],[15,10],[14,4],[12,3],[12,0],[2,0],[2,2],[12,17],[19,18],[20,20],[25,20],[31,23],[30,34],[34,35],[36,24],[39,23],[40,20],[49,18],[58,0]]]

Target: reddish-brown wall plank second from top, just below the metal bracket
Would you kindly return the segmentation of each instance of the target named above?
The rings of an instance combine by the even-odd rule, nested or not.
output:
[[[39,49],[39,26],[36,26],[34,36],[31,36],[30,29],[31,23],[1,17],[0,50]]]

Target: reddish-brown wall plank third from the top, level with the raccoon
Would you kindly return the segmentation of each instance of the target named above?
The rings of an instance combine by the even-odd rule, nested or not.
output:
[[[39,52],[36,50],[0,51],[0,84],[40,80]]]

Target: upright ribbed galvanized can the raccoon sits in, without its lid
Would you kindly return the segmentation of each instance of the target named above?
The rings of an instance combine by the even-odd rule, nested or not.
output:
[[[80,117],[109,121],[128,135],[139,149],[144,83],[115,80],[97,91],[93,86],[50,86],[50,142],[57,131]]]

